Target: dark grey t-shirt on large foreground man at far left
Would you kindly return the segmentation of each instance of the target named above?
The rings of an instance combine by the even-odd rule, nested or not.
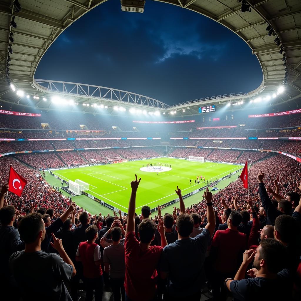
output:
[[[67,264],[55,253],[37,251],[15,252],[9,259],[11,273],[21,288],[24,300],[72,301],[64,281],[73,273]]]

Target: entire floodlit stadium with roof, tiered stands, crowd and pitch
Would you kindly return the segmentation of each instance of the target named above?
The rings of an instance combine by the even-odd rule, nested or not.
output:
[[[208,17],[246,43],[262,70],[256,79],[261,84],[252,91],[209,97],[200,92],[200,98],[171,103],[69,78],[36,78],[40,61],[55,41],[104,2],[0,4],[0,253],[6,262],[2,296],[15,290],[20,300],[299,300],[300,2],[160,1]],[[121,11],[130,19],[147,11],[147,4],[121,0]],[[89,56],[80,55],[83,61]],[[56,79],[61,79],[59,72]],[[13,182],[11,168],[17,174]],[[30,224],[33,216],[43,220],[46,234],[34,228],[37,223]],[[114,238],[116,228],[121,229],[121,240]],[[93,259],[98,269],[84,259],[93,256],[96,247],[85,256],[84,246],[80,248],[94,230],[94,238],[87,241],[99,248],[100,258],[94,253]],[[32,238],[29,232],[44,234]],[[223,236],[226,232],[228,237]],[[58,254],[55,264],[66,273],[54,273],[48,297],[42,289],[35,297],[28,290],[29,281],[44,277],[39,265],[45,263],[48,272],[46,262],[32,259],[37,267],[26,281],[16,268],[28,260],[22,256],[34,241],[35,250]],[[112,244],[124,245],[123,263],[119,255],[113,263],[108,259]],[[16,255],[24,248],[24,254]],[[195,264],[190,262],[199,255]],[[193,265],[183,267],[187,282],[173,267],[182,265],[177,262],[183,256]],[[287,262],[276,264],[284,257]],[[250,269],[256,270],[254,275]],[[256,282],[255,289],[250,281],[260,277],[272,280]],[[246,279],[247,284],[242,282]],[[278,295],[273,292],[276,285],[283,287]]]

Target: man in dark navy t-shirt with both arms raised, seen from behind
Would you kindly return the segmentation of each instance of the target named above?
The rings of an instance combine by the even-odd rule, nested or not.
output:
[[[195,221],[193,217],[185,213],[185,205],[181,189],[176,191],[180,199],[180,215],[177,217],[176,230],[178,240],[164,247],[161,259],[161,278],[168,277],[167,291],[164,300],[177,301],[184,298],[189,301],[199,301],[201,296],[200,285],[202,280],[203,264],[206,251],[210,244],[215,229],[215,213],[212,204],[212,193],[206,188],[204,196],[207,202],[208,223],[200,234],[192,238]],[[198,215],[197,215],[198,216]],[[193,265],[187,264],[178,268],[175,264],[179,259],[193,259]],[[185,275],[185,277],[183,277]]]

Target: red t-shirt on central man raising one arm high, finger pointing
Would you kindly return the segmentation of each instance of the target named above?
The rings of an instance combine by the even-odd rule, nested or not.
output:
[[[151,300],[156,292],[157,265],[163,248],[151,246],[141,250],[135,232],[129,232],[125,239],[126,294],[133,301]]]

